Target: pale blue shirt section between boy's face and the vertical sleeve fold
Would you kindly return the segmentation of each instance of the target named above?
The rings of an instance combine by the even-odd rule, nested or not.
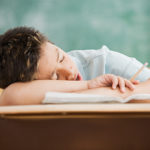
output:
[[[68,53],[76,58],[84,80],[91,80],[105,73],[105,50],[73,50]]]

